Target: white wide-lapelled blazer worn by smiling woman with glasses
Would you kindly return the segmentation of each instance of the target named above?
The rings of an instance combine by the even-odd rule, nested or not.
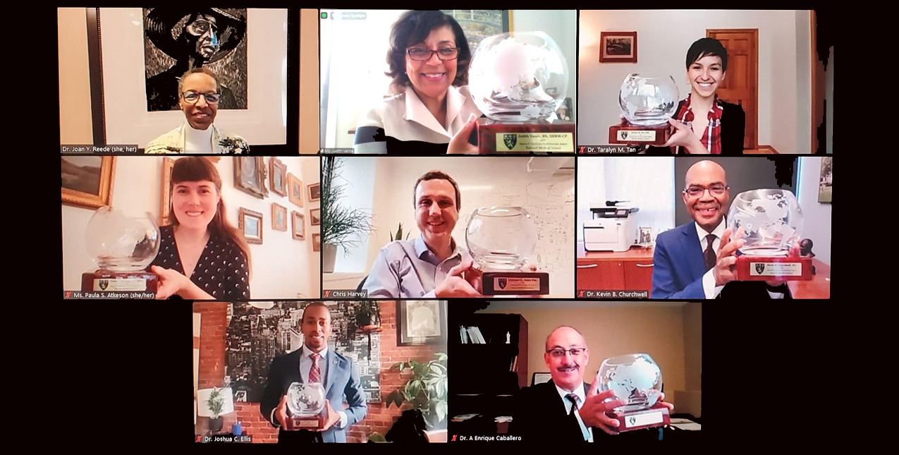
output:
[[[448,144],[449,139],[465,126],[468,115],[481,116],[468,87],[450,85],[447,90],[447,120],[444,128],[418,98],[412,85],[405,87],[405,94],[385,99],[359,119],[356,129],[362,127],[383,128],[384,134],[399,140],[420,140],[433,144]],[[384,142],[355,145],[356,153],[386,153]]]

